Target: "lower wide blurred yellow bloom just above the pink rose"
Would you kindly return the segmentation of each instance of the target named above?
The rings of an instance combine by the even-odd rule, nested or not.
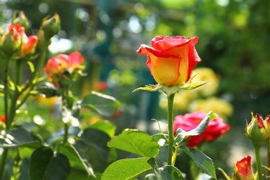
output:
[[[210,97],[206,99],[194,100],[189,107],[189,111],[202,110],[204,112],[214,111],[222,118],[231,116],[233,114],[233,107],[230,103],[221,98]]]

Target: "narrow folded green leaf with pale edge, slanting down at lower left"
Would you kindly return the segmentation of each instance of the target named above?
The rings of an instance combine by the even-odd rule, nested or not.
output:
[[[78,170],[84,170],[90,176],[94,176],[92,168],[88,167],[87,164],[82,160],[80,154],[75,150],[75,147],[69,143],[61,144],[57,148],[57,152],[64,154],[69,159],[71,168]]]

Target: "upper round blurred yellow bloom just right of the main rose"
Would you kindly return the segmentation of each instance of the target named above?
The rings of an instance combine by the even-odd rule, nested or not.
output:
[[[192,71],[192,76],[196,75],[192,81],[209,81],[206,85],[194,89],[192,93],[199,93],[200,96],[211,96],[213,95],[219,87],[219,77],[210,68],[197,68]]]

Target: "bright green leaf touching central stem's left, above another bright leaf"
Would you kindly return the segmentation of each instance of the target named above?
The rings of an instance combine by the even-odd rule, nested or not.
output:
[[[136,129],[125,129],[112,138],[108,146],[145,156],[148,159],[156,156],[160,149],[159,144],[149,134]]]

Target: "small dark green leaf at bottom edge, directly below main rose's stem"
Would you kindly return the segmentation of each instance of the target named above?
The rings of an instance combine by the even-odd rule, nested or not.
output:
[[[159,170],[161,170],[162,179],[167,179],[167,180],[183,179],[181,172],[177,168],[175,168],[173,165],[165,165],[159,168]]]

